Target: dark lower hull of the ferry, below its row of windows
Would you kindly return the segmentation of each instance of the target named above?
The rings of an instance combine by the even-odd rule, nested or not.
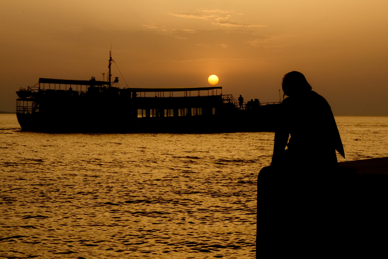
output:
[[[237,112],[233,116],[178,116],[128,118],[125,115],[105,116],[47,116],[44,114],[17,114],[23,130],[36,132],[259,132],[274,131],[272,116],[260,113]]]

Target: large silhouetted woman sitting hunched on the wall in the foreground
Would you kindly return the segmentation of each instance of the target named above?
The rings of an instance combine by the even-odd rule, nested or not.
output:
[[[345,154],[329,104],[300,72],[284,75],[282,88],[288,97],[281,103],[271,167],[293,169],[294,174],[335,170],[336,150]]]

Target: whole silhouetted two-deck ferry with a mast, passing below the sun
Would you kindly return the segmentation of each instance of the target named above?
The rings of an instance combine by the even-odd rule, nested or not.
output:
[[[119,88],[107,81],[39,78],[19,89],[16,116],[38,132],[273,131],[280,102],[241,107],[222,87]]]

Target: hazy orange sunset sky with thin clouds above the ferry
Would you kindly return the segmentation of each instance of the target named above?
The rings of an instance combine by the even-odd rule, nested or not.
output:
[[[388,1],[3,0],[0,110],[40,77],[102,80],[112,44],[129,87],[215,74],[224,94],[272,102],[296,70],[334,115],[388,116],[387,13]]]

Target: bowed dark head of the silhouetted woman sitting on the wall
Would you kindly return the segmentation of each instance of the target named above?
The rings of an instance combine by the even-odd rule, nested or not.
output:
[[[307,82],[305,76],[298,72],[292,71],[287,73],[282,81],[283,99],[284,96],[292,96],[294,94],[301,94],[310,91],[311,85]]]

